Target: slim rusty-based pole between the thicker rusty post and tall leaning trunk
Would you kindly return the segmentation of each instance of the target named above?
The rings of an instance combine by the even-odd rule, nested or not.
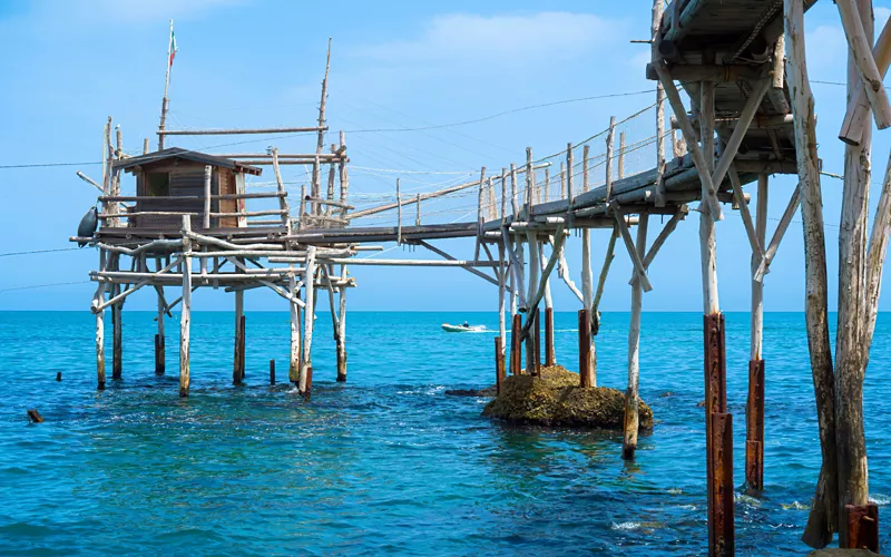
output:
[[[767,238],[767,175],[758,175],[755,234],[764,246]],[[764,329],[764,284],[754,280],[761,257],[752,252],[752,316],[748,354],[748,399],[745,410],[745,483],[748,489],[764,489],[764,359],[762,333]]]

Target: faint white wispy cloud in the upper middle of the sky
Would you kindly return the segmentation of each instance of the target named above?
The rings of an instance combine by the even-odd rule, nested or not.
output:
[[[589,13],[457,13],[434,18],[417,39],[372,46],[356,55],[386,62],[472,60],[519,66],[580,56],[620,33],[620,25]]]

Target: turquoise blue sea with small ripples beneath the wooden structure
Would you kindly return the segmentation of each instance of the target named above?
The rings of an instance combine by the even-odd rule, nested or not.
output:
[[[244,387],[233,315],[197,313],[192,397],[177,397],[178,321],[154,374],[154,314],[124,312],[124,379],[96,391],[89,313],[0,313],[0,555],[701,555],[706,550],[702,315],[646,313],[640,394],[656,427],[637,459],[621,437],[511,427],[450,388],[493,382],[495,313],[360,313],[335,383],[320,314],[313,399],[286,380],[288,316],[247,313]],[[625,388],[628,315],[604,315],[599,384]],[[748,315],[727,323],[735,483],[743,482]],[[576,369],[575,313],[557,313]],[[766,489],[738,496],[740,555],[803,554],[820,466],[804,316],[768,313]],[[108,340],[110,344],[110,339]],[[891,316],[880,315],[864,404],[871,494],[891,524]],[[56,373],[62,381],[56,382]],[[110,378],[110,350],[109,350]],[[46,418],[29,424],[26,409]],[[882,548],[891,549],[883,527]]]

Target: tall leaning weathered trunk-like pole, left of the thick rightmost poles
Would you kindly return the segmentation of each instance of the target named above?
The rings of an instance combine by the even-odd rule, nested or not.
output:
[[[835,447],[835,381],[829,340],[829,289],[823,199],[816,155],[816,115],[804,53],[804,2],[785,0],[786,80],[795,128],[795,156],[804,228],[804,316],[820,432],[823,467],[802,539],[825,547],[839,529],[838,451]]]

